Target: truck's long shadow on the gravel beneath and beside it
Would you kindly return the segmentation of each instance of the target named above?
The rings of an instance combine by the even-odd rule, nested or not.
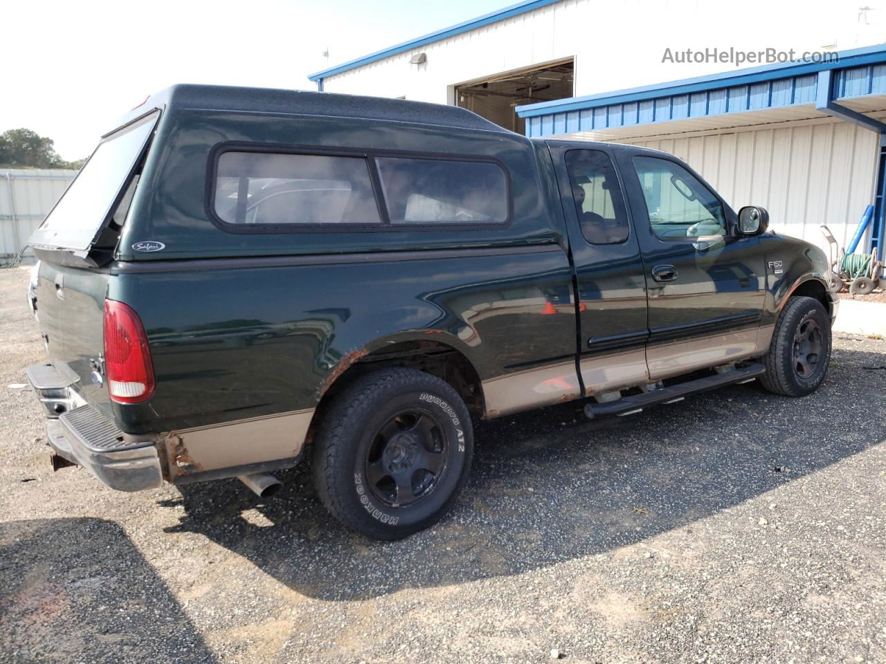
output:
[[[182,487],[198,532],[307,596],[372,598],[408,587],[515,575],[610,552],[777,489],[882,437],[879,353],[835,351],[807,398],[743,385],[627,418],[587,421],[580,404],[478,422],[471,480],[437,526],[371,542],[330,518],[307,468],[262,502],[236,481]],[[210,499],[211,498],[211,499]],[[260,521],[260,522],[258,522]]]

